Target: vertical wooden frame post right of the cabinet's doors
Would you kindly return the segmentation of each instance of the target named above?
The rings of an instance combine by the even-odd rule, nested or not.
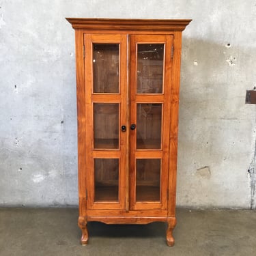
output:
[[[169,201],[168,215],[175,216],[176,179],[177,179],[177,131],[180,96],[180,60],[182,50],[182,32],[175,32],[173,38],[173,76],[171,87],[171,131],[169,154]]]

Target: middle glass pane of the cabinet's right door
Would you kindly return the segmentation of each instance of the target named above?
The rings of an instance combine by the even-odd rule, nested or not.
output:
[[[137,104],[137,149],[160,150],[162,104]]]

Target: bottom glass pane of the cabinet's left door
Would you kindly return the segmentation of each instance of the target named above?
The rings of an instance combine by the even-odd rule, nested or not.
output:
[[[94,159],[94,201],[118,201],[119,159]]]

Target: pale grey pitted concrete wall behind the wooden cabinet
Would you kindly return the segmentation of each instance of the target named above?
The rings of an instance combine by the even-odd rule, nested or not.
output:
[[[255,208],[256,2],[0,0],[0,205],[77,205],[74,30],[65,17],[193,18],[177,205]]]

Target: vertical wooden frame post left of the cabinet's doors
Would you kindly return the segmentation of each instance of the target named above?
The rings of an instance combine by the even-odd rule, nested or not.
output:
[[[79,216],[85,216],[85,78],[83,62],[83,31],[76,35],[76,104],[78,130],[78,171],[79,171]]]

